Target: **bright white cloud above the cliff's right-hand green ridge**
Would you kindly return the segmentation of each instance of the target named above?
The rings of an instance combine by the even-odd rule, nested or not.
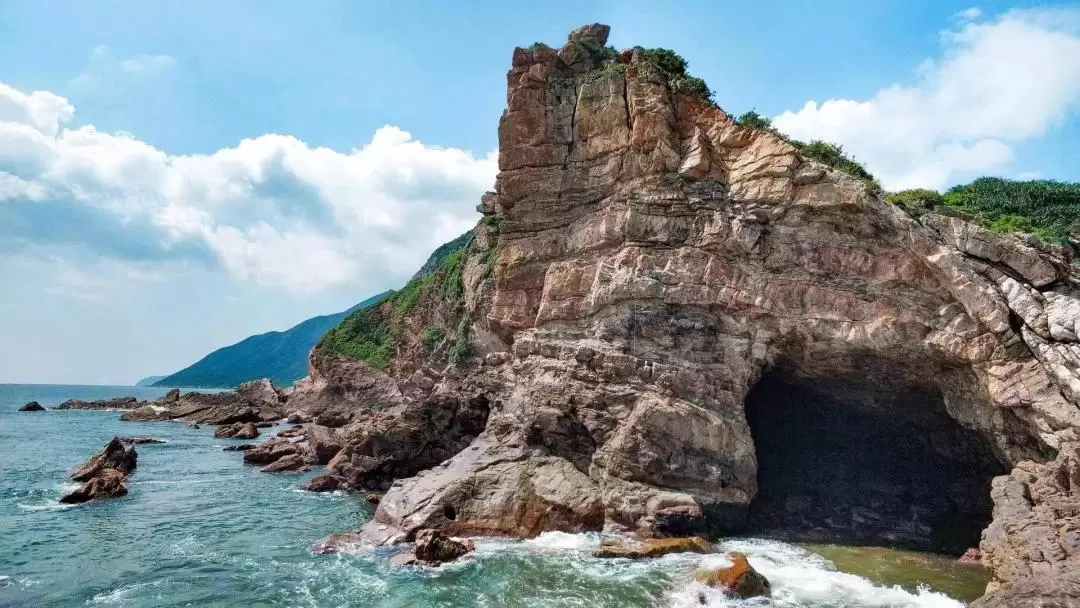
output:
[[[808,102],[773,124],[798,139],[841,144],[889,189],[942,188],[1004,170],[1015,145],[1080,107],[1080,11],[960,16],[916,84],[866,100]]]

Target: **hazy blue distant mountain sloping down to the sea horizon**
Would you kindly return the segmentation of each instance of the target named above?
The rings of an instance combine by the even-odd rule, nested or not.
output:
[[[308,353],[326,332],[337,327],[352,311],[375,306],[390,294],[383,292],[349,310],[315,316],[284,332],[244,338],[158,379],[152,386],[229,389],[247,380],[270,378],[276,386],[287,387],[308,375]]]

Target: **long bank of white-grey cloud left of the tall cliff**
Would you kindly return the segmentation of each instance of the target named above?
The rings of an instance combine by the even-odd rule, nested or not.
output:
[[[475,221],[497,171],[394,126],[340,152],[291,136],[173,156],[65,127],[75,108],[0,84],[0,255],[187,264],[318,291],[408,276]]]

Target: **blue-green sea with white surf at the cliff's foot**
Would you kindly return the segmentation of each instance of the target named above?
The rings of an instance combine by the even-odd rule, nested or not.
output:
[[[373,514],[362,497],[298,489],[319,471],[260,473],[207,427],[16,411],[164,392],[0,384],[0,606],[954,608],[986,584],[955,557],[754,538],[719,549],[746,553],[771,598],[728,599],[693,582],[696,569],[729,563],[725,553],[599,559],[596,533],[478,539],[475,554],[435,569],[392,566],[395,550],[313,555],[320,539]],[[136,447],[127,496],[60,504],[77,487],[71,469],[117,435],[167,443]]]

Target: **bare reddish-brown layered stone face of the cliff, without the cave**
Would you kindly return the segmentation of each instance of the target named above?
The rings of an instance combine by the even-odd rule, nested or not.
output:
[[[930,447],[946,460],[984,450],[1011,465],[1075,436],[1080,276],[1068,252],[910,217],[673,93],[639,52],[598,65],[589,41],[606,33],[514,52],[500,174],[464,271],[470,363],[445,368],[411,342],[390,377],[312,357],[313,384],[337,387],[342,403],[389,404],[380,437],[418,441],[395,435],[394,417],[415,430],[418,413],[457,407],[431,395],[490,403],[468,447],[394,483],[373,536],[675,536],[738,522],[759,490],[744,404],[766,373],[939,395],[977,445]],[[319,394],[330,393],[303,398]],[[357,441],[341,454],[366,465],[359,456],[377,450],[370,434]]]

